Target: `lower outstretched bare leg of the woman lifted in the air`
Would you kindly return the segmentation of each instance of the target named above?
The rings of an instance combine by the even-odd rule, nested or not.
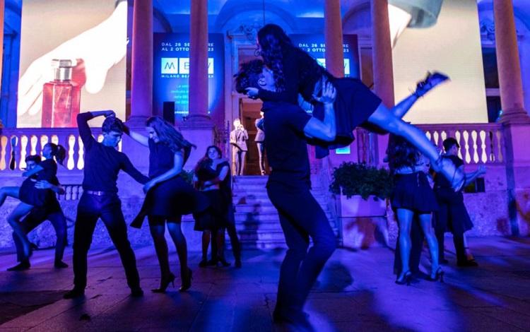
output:
[[[452,183],[453,189],[460,189],[464,185],[465,174],[461,170],[457,170],[450,160],[440,158],[436,147],[428,140],[425,133],[412,124],[407,124],[405,121],[397,118],[387,107],[380,104],[375,112],[370,115],[368,121],[376,124],[382,129],[404,137],[411,142],[413,146],[420,150],[430,160],[430,165],[444,174],[449,182]]]

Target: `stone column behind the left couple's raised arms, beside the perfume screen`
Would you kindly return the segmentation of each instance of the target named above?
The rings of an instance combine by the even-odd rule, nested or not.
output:
[[[127,125],[140,133],[153,114],[153,0],[136,0],[133,5],[131,50],[131,114]],[[144,171],[148,167],[146,149],[123,136],[122,150]]]

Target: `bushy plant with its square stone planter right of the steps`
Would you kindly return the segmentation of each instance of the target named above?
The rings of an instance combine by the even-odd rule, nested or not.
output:
[[[392,177],[384,168],[343,162],[334,169],[329,190],[337,196],[343,247],[388,243],[386,198],[392,189]]]

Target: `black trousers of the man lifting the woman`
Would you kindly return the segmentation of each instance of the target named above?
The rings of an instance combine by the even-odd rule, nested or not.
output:
[[[310,193],[310,188],[267,184],[267,194],[278,210],[287,243],[281,263],[276,312],[302,310],[314,281],[336,249],[336,238],[326,214]],[[313,246],[307,250],[310,244]]]

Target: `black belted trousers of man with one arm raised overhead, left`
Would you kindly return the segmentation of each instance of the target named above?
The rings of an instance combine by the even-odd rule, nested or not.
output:
[[[77,206],[76,226],[73,232],[73,285],[76,289],[86,287],[87,255],[95,224],[101,218],[116,247],[125,268],[127,285],[140,287],[136,268],[136,257],[127,239],[127,227],[122,213],[122,201],[117,194],[95,196],[83,193]]]

